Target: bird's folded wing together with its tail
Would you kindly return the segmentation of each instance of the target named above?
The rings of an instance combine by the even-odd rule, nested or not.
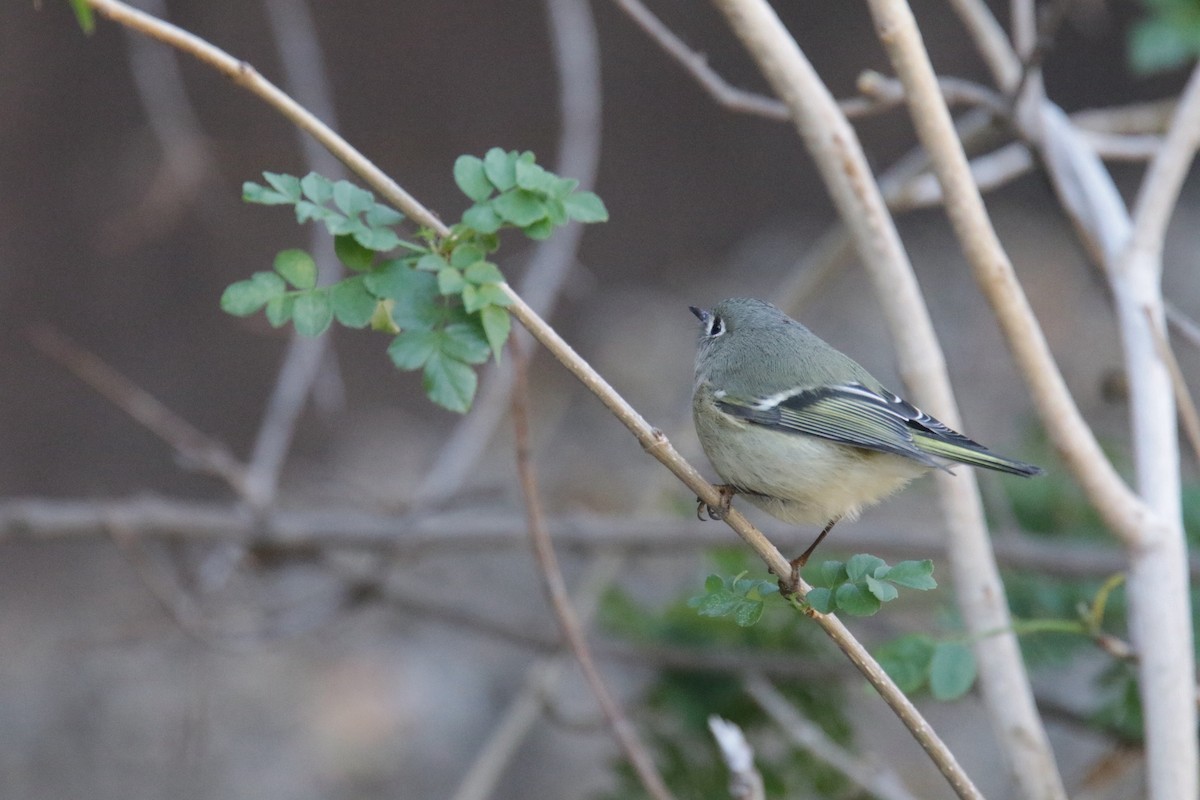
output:
[[[887,390],[859,383],[780,392],[739,401],[718,397],[726,414],[769,428],[805,433],[856,447],[906,456],[944,469],[934,456],[1013,475],[1038,475],[1042,469],[998,456],[912,403]]]

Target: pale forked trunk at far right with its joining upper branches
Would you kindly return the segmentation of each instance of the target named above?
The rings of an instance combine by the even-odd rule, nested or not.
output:
[[[1030,324],[1032,315],[1025,308],[1024,297],[1018,295],[1012,264],[986,218],[983,201],[966,170],[961,146],[948,132],[949,116],[938,108],[931,92],[932,68],[912,14],[900,0],[871,0],[871,8],[880,37],[907,89],[918,136],[934,158],[950,221],[980,284],[992,300],[1027,378],[1031,381],[1050,378],[1052,362],[1048,354],[1043,357],[1040,336],[1030,336],[1036,325]],[[1141,236],[1132,233],[1111,178],[1099,166],[1094,152],[1079,146],[1069,122],[1044,98],[1038,85],[1031,85],[1026,92],[1027,110],[1022,115],[1033,118],[1039,126],[1039,144],[1060,196],[1080,227],[1088,231],[1105,265],[1116,303],[1132,390],[1139,486],[1145,503],[1116,477],[1081,422],[1075,426],[1079,435],[1072,435],[1063,443],[1067,447],[1060,449],[1068,455],[1092,451],[1086,463],[1073,464],[1073,468],[1106,522],[1129,547],[1130,625],[1141,657],[1140,691],[1146,715],[1150,794],[1163,799],[1196,794],[1194,654],[1187,572],[1181,566],[1186,547],[1180,522],[1178,444],[1170,375],[1156,355],[1153,329],[1162,331],[1163,325],[1162,233],[1182,172],[1190,163],[1200,136],[1196,130],[1200,127],[1198,84],[1196,79],[1189,83],[1177,124],[1139,196],[1140,204],[1142,200],[1150,204],[1141,207],[1156,209],[1146,211],[1150,221],[1142,219],[1145,233]],[[1074,142],[1075,146],[1069,146],[1068,142]],[[1159,164],[1164,167],[1157,169]],[[1159,191],[1165,199],[1146,200]],[[1038,365],[1038,360],[1043,363]],[[1061,379],[1055,378],[1055,383]],[[1066,397],[1064,387],[1054,389],[1055,393]],[[1037,391],[1034,395],[1043,401],[1039,408],[1045,409],[1046,397],[1038,397]],[[1074,411],[1073,407],[1068,410]],[[1055,435],[1062,437],[1062,433]],[[1088,438],[1080,438],[1084,434]]]

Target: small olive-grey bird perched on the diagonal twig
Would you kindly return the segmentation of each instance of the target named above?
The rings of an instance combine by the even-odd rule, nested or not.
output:
[[[858,362],[770,303],[731,297],[700,319],[692,419],[704,455],[734,494],[792,524],[824,529],[792,561],[792,578],[839,519],[946,462],[1010,475],[1042,469],[998,456],[883,387]]]

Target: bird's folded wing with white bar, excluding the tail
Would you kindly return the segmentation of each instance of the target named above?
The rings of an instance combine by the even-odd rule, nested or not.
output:
[[[720,410],[756,425],[895,453],[929,467],[938,464],[917,446],[910,423],[924,417],[954,433],[899,397],[883,397],[859,383],[792,390],[752,399],[716,392],[715,399]]]

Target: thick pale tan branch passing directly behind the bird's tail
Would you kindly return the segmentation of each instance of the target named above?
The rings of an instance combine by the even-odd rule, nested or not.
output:
[[[791,109],[796,127],[854,236],[888,320],[910,392],[918,404],[959,427],[958,408],[929,312],[853,128],[767,2],[718,0],[716,5],[758,61],[775,94]],[[949,120],[940,92],[937,103]],[[952,203],[947,194],[947,204]],[[1030,798],[1062,798],[1066,793],[1016,639],[1012,633],[982,636],[1009,630],[1012,620],[974,475],[965,471],[959,476],[938,475],[936,480],[942,515],[950,531],[947,547],[959,606],[968,630],[976,634],[980,685],[1010,774]]]

